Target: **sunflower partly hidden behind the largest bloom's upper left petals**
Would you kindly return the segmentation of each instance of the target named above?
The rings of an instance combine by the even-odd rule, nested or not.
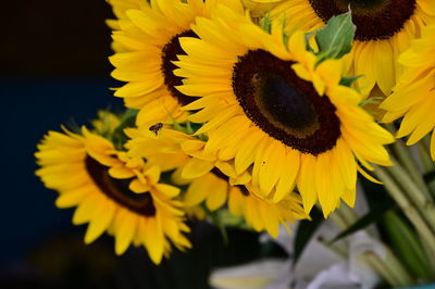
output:
[[[225,3],[243,11],[240,0],[153,0],[140,9],[127,10],[113,33],[119,51],[110,58],[115,66],[112,76],[126,81],[114,96],[124,99],[127,108],[140,109],[137,123],[148,126],[158,122],[183,120],[179,104],[190,98],[175,86],[182,79],[173,74],[173,61],[184,54],[179,37],[196,37],[190,25],[197,16],[207,16],[215,3]]]

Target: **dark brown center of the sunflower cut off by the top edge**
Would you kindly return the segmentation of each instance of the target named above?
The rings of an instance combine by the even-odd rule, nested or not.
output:
[[[332,16],[352,11],[356,39],[381,40],[393,37],[413,15],[415,0],[309,0],[324,23]]]

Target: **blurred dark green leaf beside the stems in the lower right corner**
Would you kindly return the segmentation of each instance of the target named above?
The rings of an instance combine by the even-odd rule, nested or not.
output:
[[[414,274],[414,276],[425,279],[433,279],[431,265],[419,236],[395,212],[388,212],[384,216],[384,225],[389,236],[390,243],[395,253],[402,261],[403,265]]]

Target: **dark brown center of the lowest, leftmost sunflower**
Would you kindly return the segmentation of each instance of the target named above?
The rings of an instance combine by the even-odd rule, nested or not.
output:
[[[85,166],[90,178],[108,198],[137,214],[156,215],[156,206],[150,193],[135,193],[128,189],[132,179],[112,178],[109,175],[109,167],[89,155],[85,159]]]

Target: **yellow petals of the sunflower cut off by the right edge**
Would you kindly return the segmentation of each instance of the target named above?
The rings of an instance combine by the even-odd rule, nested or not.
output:
[[[381,108],[387,113],[384,122],[405,115],[397,137],[410,135],[411,146],[435,128],[435,118],[427,117],[435,110],[435,24],[423,29],[422,38],[412,41],[411,48],[400,55],[405,71]],[[435,160],[435,137],[432,134],[431,155]]]

